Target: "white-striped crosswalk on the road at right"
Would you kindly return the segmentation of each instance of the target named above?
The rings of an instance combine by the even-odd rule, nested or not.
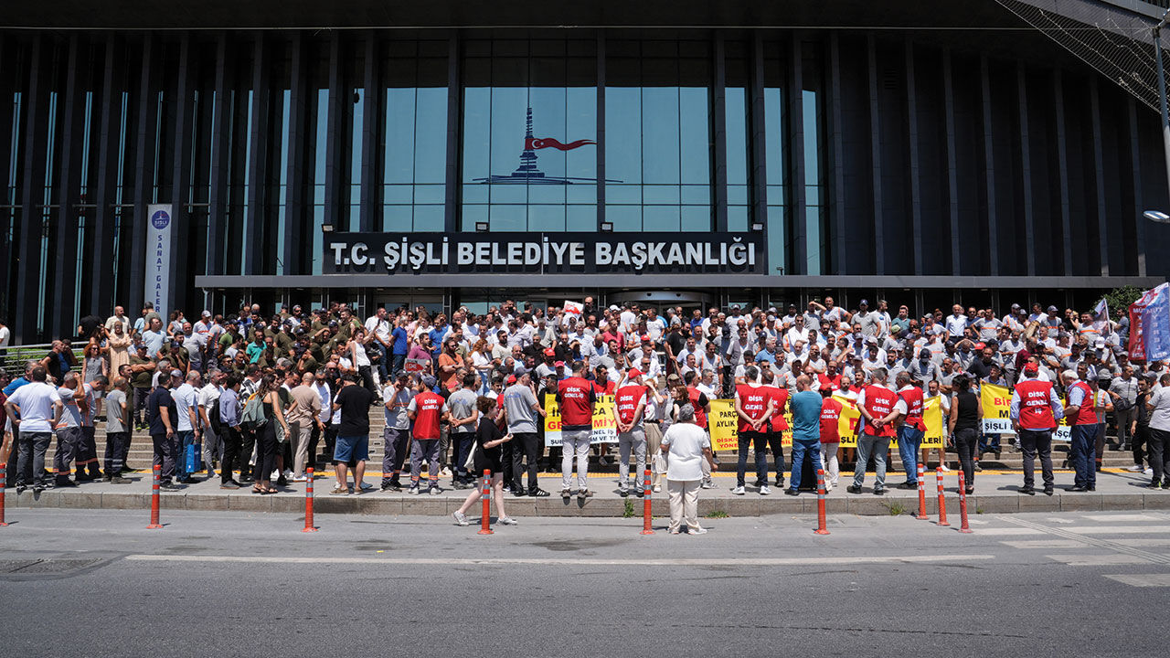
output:
[[[1067,567],[1135,567],[1145,573],[1102,573],[1137,588],[1170,588],[1170,513],[1003,515],[976,532],[999,543]],[[1018,539],[1017,539],[1018,537]]]

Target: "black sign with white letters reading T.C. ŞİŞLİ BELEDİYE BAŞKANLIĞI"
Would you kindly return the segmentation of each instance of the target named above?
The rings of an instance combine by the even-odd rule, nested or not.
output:
[[[759,233],[333,233],[324,274],[766,274]]]

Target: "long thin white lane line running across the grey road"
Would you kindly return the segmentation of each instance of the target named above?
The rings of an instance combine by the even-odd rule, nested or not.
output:
[[[993,555],[887,555],[862,557],[732,557],[677,560],[620,560],[620,558],[545,558],[545,557],[290,557],[276,555],[128,555],[135,562],[249,562],[273,564],[553,564],[584,567],[790,567],[790,566],[848,566],[848,564],[916,564],[942,562],[973,562],[994,560]]]

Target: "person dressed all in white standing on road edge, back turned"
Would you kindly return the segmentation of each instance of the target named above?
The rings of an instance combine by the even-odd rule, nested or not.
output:
[[[687,532],[693,535],[707,530],[698,525],[698,486],[703,480],[702,462],[716,469],[711,457],[711,441],[707,432],[695,425],[695,407],[689,404],[679,409],[679,417],[662,436],[662,452],[667,458],[666,487],[670,494],[670,534],[677,535],[682,519],[687,519]]]

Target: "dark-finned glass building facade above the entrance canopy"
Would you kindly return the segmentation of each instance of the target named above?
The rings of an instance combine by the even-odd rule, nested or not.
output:
[[[484,227],[752,232],[772,276],[1147,275],[1138,254],[1170,240],[1137,224],[1162,194],[1157,122],[1122,91],[1090,103],[1088,70],[841,34],[4,32],[0,314],[48,335],[136,306],[151,203],[176,206],[184,295],[321,274],[328,231]],[[1020,70],[1066,90],[1059,135],[1037,128],[1051,104],[1019,103]],[[921,272],[899,253],[915,239]]]

